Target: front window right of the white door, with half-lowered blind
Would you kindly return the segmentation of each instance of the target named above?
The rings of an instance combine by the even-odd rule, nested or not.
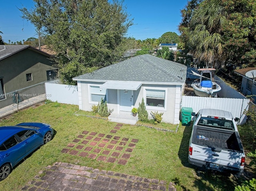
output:
[[[165,90],[146,89],[146,105],[164,108]]]

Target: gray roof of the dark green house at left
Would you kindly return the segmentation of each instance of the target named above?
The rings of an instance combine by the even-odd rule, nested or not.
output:
[[[51,56],[44,51],[40,51],[34,47],[31,47],[30,45],[0,45],[0,60],[5,59],[6,57],[9,57],[11,55],[14,55],[15,53],[22,51],[26,48],[38,51],[38,53],[45,54],[47,56]]]

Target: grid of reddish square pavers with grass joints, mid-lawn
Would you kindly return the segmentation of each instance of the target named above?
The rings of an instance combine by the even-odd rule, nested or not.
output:
[[[121,127],[122,124],[116,124],[109,134],[83,131],[61,152],[126,165],[139,140],[113,135]]]

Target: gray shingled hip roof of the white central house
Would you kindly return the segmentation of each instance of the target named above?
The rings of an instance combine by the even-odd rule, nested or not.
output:
[[[180,63],[145,54],[74,77],[73,80],[181,84],[186,81],[186,69]]]

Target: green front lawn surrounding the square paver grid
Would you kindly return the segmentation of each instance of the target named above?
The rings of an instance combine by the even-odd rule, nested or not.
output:
[[[211,171],[199,171],[188,163],[191,127],[179,126],[175,133],[124,124],[115,135],[139,140],[126,165],[61,153],[63,148],[85,130],[109,134],[116,126],[115,122],[76,115],[77,111],[78,106],[53,102],[30,107],[0,120],[0,126],[20,122],[44,122],[51,124],[55,131],[52,141],[22,161],[7,179],[0,182],[1,191],[21,189],[44,167],[57,161],[165,180],[175,183],[178,191],[198,191],[202,188],[208,191],[233,191],[236,183],[240,183],[240,180],[232,175],[225,177]],[[86,113],[88,114],[90,113]],[[164,127],[175,130],[177,125],[164,124]]]

